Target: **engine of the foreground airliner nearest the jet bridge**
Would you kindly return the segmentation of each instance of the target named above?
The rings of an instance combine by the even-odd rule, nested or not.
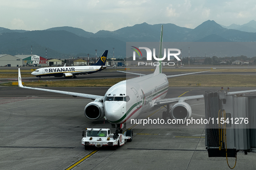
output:
[[[171,116],[173,119],[188,119],[191,117],[191,114],[191,107],[185,102],[176,103],[171,110]]]

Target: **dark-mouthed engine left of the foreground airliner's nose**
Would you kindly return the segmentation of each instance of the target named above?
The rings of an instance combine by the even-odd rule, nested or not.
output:
[[[84,115],[88,119],[97,120],[104,117],[104,107],[103,103],[99,101],[93,101],[91,103],[88,103],[84,107]]]

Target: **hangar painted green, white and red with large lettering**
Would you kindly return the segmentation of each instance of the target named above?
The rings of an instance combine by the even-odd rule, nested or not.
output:
[[[21,59],[23,66],[47,66],[47,59],[38,55],[16,55],[14,57]]]

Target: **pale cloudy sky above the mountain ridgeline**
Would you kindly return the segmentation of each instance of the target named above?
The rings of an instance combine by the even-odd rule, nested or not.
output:
[[[254,0],[0,0],[0,27],[44,30],[71,26],[96,33],[146,22],[195,28],[202,22],[256,20]]]

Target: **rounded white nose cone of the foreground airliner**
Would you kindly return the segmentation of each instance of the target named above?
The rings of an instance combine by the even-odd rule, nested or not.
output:
[[[122,110],[121,105],[115,102],[107,101],[104,104],[105,116],[107,120],[112,122],[117,121],[121,118]]]

